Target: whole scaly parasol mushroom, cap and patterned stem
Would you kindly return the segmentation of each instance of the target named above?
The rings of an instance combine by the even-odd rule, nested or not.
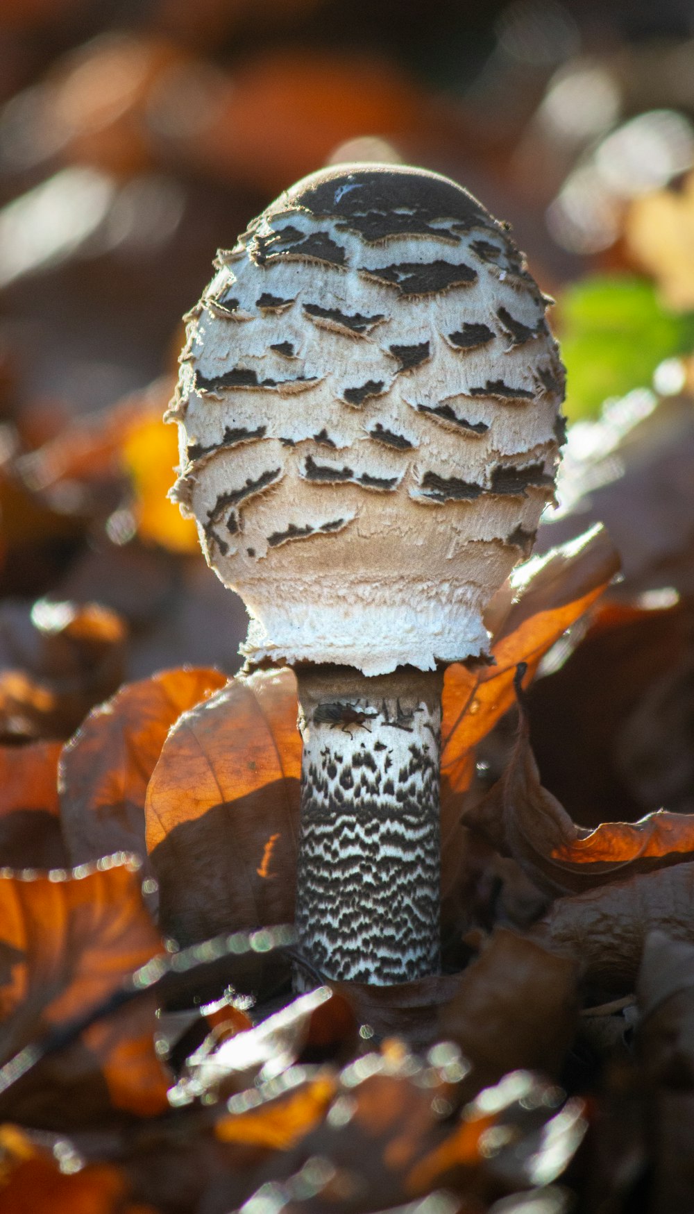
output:
[[[564,374],[506,225],[438,174],[340,165],[254,220],[188,317],[172,495],[294,666],[296,919],[331,978],[439,964],[443,669],[553,497]]]

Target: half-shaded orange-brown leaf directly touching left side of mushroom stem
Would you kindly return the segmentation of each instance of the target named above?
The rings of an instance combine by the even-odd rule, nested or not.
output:
[[[164,744],[146,805],[167,936],[187,944],[291,923],[300,775],[291,670],[235,679],[183,714]],[[272,835],[279,838],[263,868]]]

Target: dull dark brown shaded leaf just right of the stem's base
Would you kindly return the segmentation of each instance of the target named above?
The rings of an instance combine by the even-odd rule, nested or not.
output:
[[[456,977],[438,1036],[472,1063],[474,1091],[517,1070],[558,1076],[578,1022],[578,965],[505,927]]]

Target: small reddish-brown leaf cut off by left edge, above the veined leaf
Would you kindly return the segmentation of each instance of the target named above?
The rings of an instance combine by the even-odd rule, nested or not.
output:
[[[0,747],[0,868],[59,868],[59,742]]]

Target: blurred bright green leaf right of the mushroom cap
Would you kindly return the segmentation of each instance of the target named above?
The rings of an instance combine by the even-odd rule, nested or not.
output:
[[[571,421],[648,387],[664,358],[694,348],[694,312],[667,312],[647,278],[585,278],[563,293],[558,311]]]

